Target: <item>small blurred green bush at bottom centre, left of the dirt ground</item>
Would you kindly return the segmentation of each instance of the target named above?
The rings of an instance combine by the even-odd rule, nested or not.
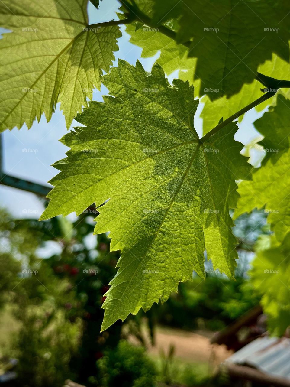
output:
[[[120,341],[97,361],[102,387],[154,387],[156,370],[142,347]]]

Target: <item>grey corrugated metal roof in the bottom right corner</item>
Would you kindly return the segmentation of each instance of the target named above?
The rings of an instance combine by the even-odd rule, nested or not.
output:
[[[235,352],[226,362],[249,365],[290,380],[290,339],[259,337]]]

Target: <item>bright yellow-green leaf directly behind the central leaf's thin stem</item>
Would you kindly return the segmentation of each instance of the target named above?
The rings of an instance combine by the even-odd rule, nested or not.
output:
[[[261,66],[259,66],[258,71],[261,74],[268,75],[268,77],[273,77],[276,79],[290,79],[290,65],[281,58],[273,55],[272,60],[267,60]],[[251,84],[245,84],[239,94],[235,94],[231,98],[226,98],[225,96],[219,98],[215,101],[211,101],[208,95],[205,95],[201,102],[205,104],[201,117],[203,118],[203,134],[205,135],[213,127],[215,127],[220,118],[223,117],[225,120],[232,114],[236,113],[242,109],[247,104],[251,103],[255,99],[262,96],[260,82],[254,80]],[[279,93],[283,93],[284,96],[288,98],[289,89],[280,89]],[[205,92],[205,94],[207,94]],[[264,103],[256,106],[257,111],[263,110],[268,105],[275,105],[277,100],[277,95],[268,99]],[[239,118],[242,120],[242,116]]]

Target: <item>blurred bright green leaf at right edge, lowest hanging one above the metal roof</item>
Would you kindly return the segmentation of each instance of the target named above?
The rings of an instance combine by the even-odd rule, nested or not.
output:
[[[255,291],[262,295],[261,304],[270,332],[282,336],[290,325],[290,234],[281,244],[274,236],[267,236],[266,244],[268,240],[270,247],[259,248],[252,262],[250,280]]]

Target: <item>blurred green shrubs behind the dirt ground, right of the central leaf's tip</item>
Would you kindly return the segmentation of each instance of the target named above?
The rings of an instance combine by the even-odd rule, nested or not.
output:
[[[221,276],[194,277],[179,284],[178,293],[162,306],[154,306],[157,320],[183,329],[220,330],[259,303],[253,286],[242,277],[230,281]]]

